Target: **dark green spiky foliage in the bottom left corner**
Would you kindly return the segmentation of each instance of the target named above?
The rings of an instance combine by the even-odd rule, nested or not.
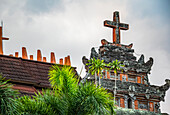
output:
[[[0,114],[2,115],[13,115],[17,113],[15,98],[18,94],[17,91],[13,90],[12,85],[4,81],[4,78],[0,75]]]

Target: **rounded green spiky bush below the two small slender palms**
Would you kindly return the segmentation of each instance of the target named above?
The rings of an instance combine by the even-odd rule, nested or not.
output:
[[[78,114],[83,113],[93,115],[113,114],[114,103],[112,95],[107,93],[104,88],[96,88],[94,84],[80,84],[79,91],[79,108]]]

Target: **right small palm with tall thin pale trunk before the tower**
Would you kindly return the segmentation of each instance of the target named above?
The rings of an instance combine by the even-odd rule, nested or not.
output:
[[[110,67],[109,70],[114,70],[114,76],[115,76],[114,102],[115,102],[117,71],[122,70],[122,67],[124,67],[124,65],[122,65],[121,62],[116,59],[112,63],[109,63],[108,66]]]

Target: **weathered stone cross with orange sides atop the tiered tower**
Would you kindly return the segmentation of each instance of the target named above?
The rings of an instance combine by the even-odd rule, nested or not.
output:
[[[128,30],[129,24],[120,23],[119,12],[113,13],[113,21],[105,20],[104,26],[113,28],[113,43],[120,44],[120,29]]]

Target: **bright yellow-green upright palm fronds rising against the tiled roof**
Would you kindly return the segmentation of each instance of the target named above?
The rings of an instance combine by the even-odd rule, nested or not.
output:
[[[71,95],[78,84],[78,79],[72,72],[72,68],[67,66],[61,69],[56,65],[52,66],[49,71],[49,81],[54,89],[67,95]]]

